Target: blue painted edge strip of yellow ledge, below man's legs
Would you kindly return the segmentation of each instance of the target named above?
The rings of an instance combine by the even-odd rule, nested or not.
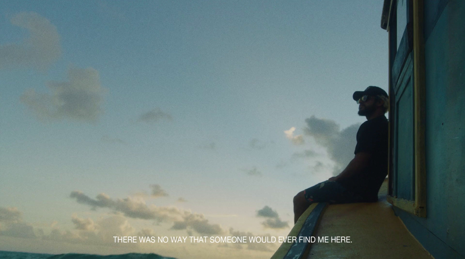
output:
[[[308,218],[305,220],[304,225],[300,229],[299,235],[297,236],[297,242],[295,242],[291,249],[286,253],[283,259],[301,259],[307,249],[308,243],[299,242],[299,237],[311,237],[315,227],[318,223],[318,220],[323,212],[323,209],[326,207],[326,202],[320,202],[312,210]]]

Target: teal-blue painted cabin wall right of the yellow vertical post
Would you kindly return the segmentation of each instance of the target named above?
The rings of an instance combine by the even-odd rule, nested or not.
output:
[[[427,216],[394,210],[436,259],[465,258],[465,1],[424,5]]]

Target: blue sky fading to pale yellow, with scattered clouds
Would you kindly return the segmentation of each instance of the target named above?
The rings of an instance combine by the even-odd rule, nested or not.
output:
[[[269,258],[387,91],[383,1],[0,1],[0,250]],[[350,234],[348,234],[350,235]]]

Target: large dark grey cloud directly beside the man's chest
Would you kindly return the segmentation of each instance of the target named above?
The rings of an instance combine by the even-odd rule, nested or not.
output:
[[[333,175],[338,175],[353,159],[357,144],[356,135],[360,124],[353,124],[343,130],[332,120],[319,119],[315,116],[305,120],[305,134],[313,136],[317,144],[326,148],[329,158],[336,163]]]

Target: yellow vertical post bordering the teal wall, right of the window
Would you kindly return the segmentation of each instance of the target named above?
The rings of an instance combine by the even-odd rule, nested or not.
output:
[[[426,217],[425,40],[423,0],[413,0],[413,74],[415,101],[415,215]]]

